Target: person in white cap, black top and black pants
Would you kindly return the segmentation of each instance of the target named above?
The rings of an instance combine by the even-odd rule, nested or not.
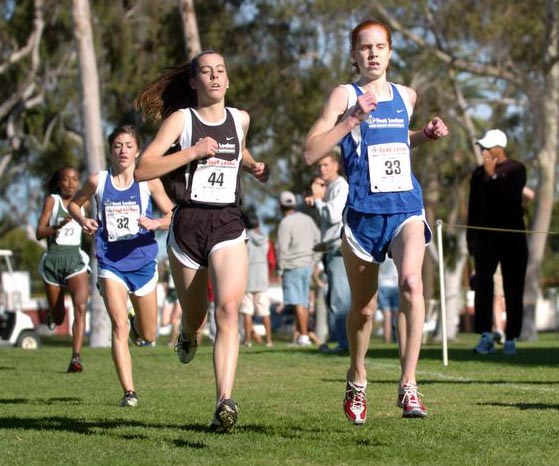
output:
[[[507,310],[504,354],[516,354],[515,340],[522,329],[523,292],[528,263],[526,234],[498,230],[525,230],[522,195],[526,184],[524,164],[507,157],[507,136],[499,129],[487,131],[477,141],[483,165],[472,173],[468,225],[468,251],[474,256],[476,333],[474,352],[495,352],[493,334],[493,275],[501,264]],[[498,229],[494,231],[493,229]]]

